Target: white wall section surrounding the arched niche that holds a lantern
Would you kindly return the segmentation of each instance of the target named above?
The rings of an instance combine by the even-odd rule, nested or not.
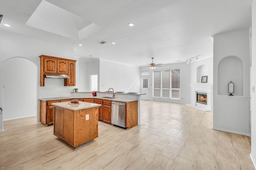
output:
[[[249,28],[214,35],[213,56],[213,129],[250,136],[250,34]],[[218,88],[228,90],[230,70],[219,70],[219,63],[228,56],[240,58],[243,66],[242,96],[219,95]],[[236,70],[230,63],[227,69]],[[231,70],[231,72],[232,72]],[[230,73],[230,74],[228,74]],[[219,74],[225,74],[226,80]],[[222,86],[218,81],[226,81]]]

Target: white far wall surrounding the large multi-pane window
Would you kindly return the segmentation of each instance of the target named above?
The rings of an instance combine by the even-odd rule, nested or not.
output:
[[[141,71],[149,70],[150,77],[150,92],[149,100],[159,101],[159,102],[172,102],[181,104],[190,104],[190,64],[175,63],[175,64],[163,64],[162,67],[156,68],[156,70],[166,70],[180,68],[180,99],[165,99],[152,97],[152,83],[153,83],[153,70],[149,69],[148,66],[141,67]],[[183,100],[182,100],[183,98]]]

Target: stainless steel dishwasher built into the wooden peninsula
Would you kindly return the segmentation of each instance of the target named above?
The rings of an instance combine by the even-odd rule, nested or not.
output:
[[[111,123],[125,128],[125,103],[112,102]]]

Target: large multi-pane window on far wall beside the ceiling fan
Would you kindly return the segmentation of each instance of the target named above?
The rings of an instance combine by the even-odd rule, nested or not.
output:
[[[153,97],[180,98],[180,69],[157,70],[153,73]]]

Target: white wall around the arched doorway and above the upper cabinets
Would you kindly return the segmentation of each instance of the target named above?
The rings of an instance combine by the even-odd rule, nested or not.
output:
[[[50,55],[54,57],[61,57],[66,59],[74,59],[74,49],[69,47],[64,47],[61,45],[56,45],[53,43],[48,43],[45,41],[39,41],[36,39],[7,33],[4,31],[0,31],[0,85],[3,85],[3,72],[4,72],[4,61],[10,59],[12,57],[24,57],[29,59],[33,63],[36,64],[38,72],[37,72],[37,98],[43,98],[48,96],[48,85],[45,87],[40,87],[40,55]],[[63,80],[62,80],[63,81]],[[55,90],[63,89],[65,90],[64,84],[61,86],[54,87]],[[52,89],[54,90],[54,89]],[[68,89],[66,89],[68,91]],[[31,93],[27,91],[28,94]],[[40,95],[39,95],[40,92]],[[20,94],[17,94],[18,96]],[[3,90],[0,90],[0,107],[3,108],[3,115],[5,113],[5,108],[3,107]],[[17,96],[17,97],[18,97]],[[39,122],[40,116],[40,102],[37,100],[37,122]],[[0,131],[2,131],[2,117],[0,117]]]

